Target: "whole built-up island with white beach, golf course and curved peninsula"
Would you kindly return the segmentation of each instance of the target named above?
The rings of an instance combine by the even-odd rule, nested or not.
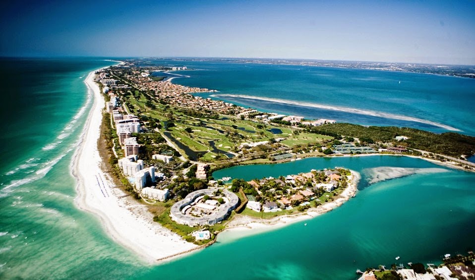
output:
[[[474,169],[460,157],[473,153],[472,137],[258,112],[192,95],[211,90],[153,79],[153,71],[127,62],[90,73],[95,101],[73,172],[79,207],[149,261],[209,246],[226,228],[282,225],[332,210],[355,195],[359,179],[335,168],[229,182],[212,177],[218,169],[381,153]]]

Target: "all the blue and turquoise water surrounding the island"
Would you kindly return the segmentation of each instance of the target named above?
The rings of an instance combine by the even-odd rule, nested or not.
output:
[[[214,94],[331,104],[388,113],[391,118],[312,104],[223,98],[245,106],[308,118],[448,131],[438,126],[443,125],[475,135],[475,79],[227,62],[162,63],[195,69],[178,71],[190,77],[173,82],[219,90]],[[363,176],[356,197],[306,221],[307,226],[297,222],[242,238],[245,233],[225,232],[216,244],[190,256],[159,266],[142,263],[105,234],[95,215],[74,205],[71,158],[92,104],[83,81],[89,71],[113,64],[98,58],[0,60],[1,279],[355,279],[356,269],[390,265],[396,256],[401,257],[398,263],[437,262],[446,253],[474,247],[473,173],[408,157],[310,158],[238,166],[214,176],[252,179],[344,166]],[[430,172],[370,184],[380,166]],[[434,168],[438,171],[432,172]]]

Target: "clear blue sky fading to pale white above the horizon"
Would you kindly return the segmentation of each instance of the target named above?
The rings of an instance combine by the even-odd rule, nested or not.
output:
[[[475,65],[475,0],[3,0],[0,56]]]

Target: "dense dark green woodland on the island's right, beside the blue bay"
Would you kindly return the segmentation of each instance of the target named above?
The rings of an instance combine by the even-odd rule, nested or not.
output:
[[[331,133],[355,137],[367,143],[375,141],[394,143],[401,146],[455,157],[475,153],[475,137],[453,132],[435,134],[411,128],[363,127],[352,124],[323,125],[313,131],[324,135]],[[409,137],[409,139],[397,141],[394,139],[396,136],[406,136]]]

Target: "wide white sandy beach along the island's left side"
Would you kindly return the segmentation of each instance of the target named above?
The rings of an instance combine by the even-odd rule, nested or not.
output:
[[[72,174],[77,179],[76,205],[99,216],[106,232],[124,247],[134,251],[147,262],[155,262],[197,248],[177,234],[153,222],[145,206],[126,197],[119,188],[111,188],[112,181],[101,169],[97,150],[104,99],[94,82],[94,71],[85,82],[94,104],[81,135],[81,142],[72,161]]]

